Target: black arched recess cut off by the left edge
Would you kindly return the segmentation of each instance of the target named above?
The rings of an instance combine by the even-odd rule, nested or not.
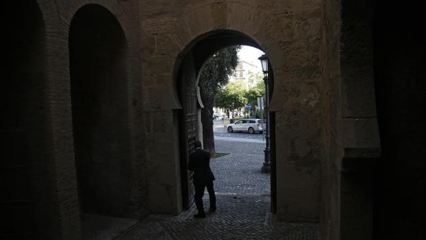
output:
[[[0,238],[34,239],[47,219],[45,26],[36,1],[5,1],[0,87]]]

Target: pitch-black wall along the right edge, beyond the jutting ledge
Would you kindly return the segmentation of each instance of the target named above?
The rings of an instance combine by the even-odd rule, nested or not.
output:
[[[420,3],[375,1],[374,72],[382,156],[374,238],[425,239],[426,74]],[[396,19],[395,12],[401,12]]]

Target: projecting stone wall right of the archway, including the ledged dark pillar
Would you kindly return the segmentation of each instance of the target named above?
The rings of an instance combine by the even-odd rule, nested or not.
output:
[[[380,156],[372,7],[370,1],[324,1],[324,112],[330,113],[324,121],[324,239],[372,239],[372,173]]]

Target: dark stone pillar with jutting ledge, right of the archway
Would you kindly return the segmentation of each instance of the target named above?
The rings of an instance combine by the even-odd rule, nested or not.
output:
[[[341,1],[340,239],[372,239],[372,170],[380,156],[371,1]]]

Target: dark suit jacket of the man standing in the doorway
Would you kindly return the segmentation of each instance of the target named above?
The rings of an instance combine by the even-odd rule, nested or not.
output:
[[[210,152],[204,149],[197,149],[190,154],[188,169],[194,171],[194,184],[205,184],[214,180],[212,169],[210,169]]]

